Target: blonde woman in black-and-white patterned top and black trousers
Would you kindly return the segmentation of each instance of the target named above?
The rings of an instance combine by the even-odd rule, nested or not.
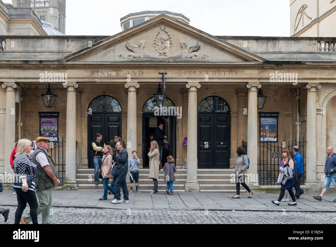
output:
[[[17,150],[14,159],[14,173],[20,175],[22,186],[14,185],[17,198],[14,224],[20,224],[22,213],[27,206],[30,207],[30,216],[33,224],[37,223],[37,199],[35,194],[35,171],[36,164],[28,157],[32,149],[32,142],[27,139],[20,139],[17,142]],[[32,175],[32,185],[28,186],[26,175]]]

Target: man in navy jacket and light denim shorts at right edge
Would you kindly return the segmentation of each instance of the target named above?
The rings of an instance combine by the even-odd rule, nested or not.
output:
[[[333,151],[333,147],[327,148],[328,156],[326,157],[326,165],[324,166],[324,173],[326,177],[324,179],[323,189],[321,195],[313,196],[313,198],[318,201],[322,201],[322,197],[327,192],[327,189],[329,189],[331,182],[333,183],[334,189],[336,190],[336,154],[333,154]],[[336,202],[336,199],[333,200],[333,202]]]

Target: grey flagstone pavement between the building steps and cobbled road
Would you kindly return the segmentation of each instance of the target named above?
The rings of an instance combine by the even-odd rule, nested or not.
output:
[[[280,206],[271,203],[277,200],[279,194],[257,194],[247,198],[242,194],[240,199],[232,199],[234,193],[221,192],[174,192],[168,195],[159,192],[150,195],[147,192],[129,194],[129,203],[112,204],[113,195],[108,200],[99,201],[103,190],[52,191],[53,206],[74,208],[111,208],[137,210],[222,210],[222,211],[286,211],[291,212],[336,212],[334,206],[335,195],[325,195],[322,201],[313,199],[313,195],[303,194],[297,200],[297,206],[289,206],[288,202],[281,202]],[[123,195],[121,195],[123,198]],[[289,202],[291,203],[291,201]],[[0,193],[0,205],[17,206],[16,195],[10,190]]]

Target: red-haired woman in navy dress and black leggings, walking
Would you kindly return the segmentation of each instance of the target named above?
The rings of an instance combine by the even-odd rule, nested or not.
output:
[[[272,203],[276,204],[276,205],[280,205],[280,202],[282,200],[282,198],[285,195],[285,190],[288,190],[289,195],[291,196],[293,202],[292,203],[288,203],[288,205],[290,206],[295,206],[296,201],[295,201],[295,196],[293,193],[293,187],[294,187],[294,180],[295,180],[295,175],[294,175],[294,161],[292,159],[292,156],[289,152],[288,149],[283,149],[282,150],[282,162],[284,163],[283,167],[280,167],[280,170],[283,170],[283,172],[285,173],[284,175],[284,179],[281,182],[281,191],[280,191],[280,196],[278,201],[271,201]]]

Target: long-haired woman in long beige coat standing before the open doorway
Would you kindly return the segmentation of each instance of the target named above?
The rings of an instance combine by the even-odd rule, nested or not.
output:
[[[151,141],[151,150],[147,155],[150,157],[149,178],[154,181],[154,189],[150,192],[152,195],[158,193],[160,152],[156,141]]]

